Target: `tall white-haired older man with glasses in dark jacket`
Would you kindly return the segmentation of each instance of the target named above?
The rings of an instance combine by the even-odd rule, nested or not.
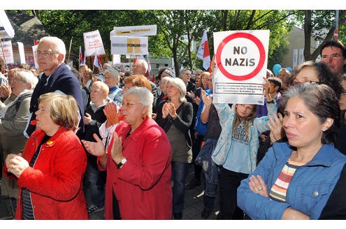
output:
[[[84,132],[84,122],[82,117],[84,105],[82,100],[82,92],[77,78],[69,70],[69,67],[64,63],[66,56],[66,47],[64,41],[60,38],[45,36],[38,43],[38,48],[35,52],[39,68],[43,71],[40,75],[40,80],[36,85],[31,97],[30,117],[28,119],[27,128],[24,130],[24,135],[29,138],[31,133],[36,130],[36,110],[38,110],[38,98],[42,94],[48,92],[57,92],[60,94],[68,94],[73,96],[78,103],[80,122],[78,135]]]

